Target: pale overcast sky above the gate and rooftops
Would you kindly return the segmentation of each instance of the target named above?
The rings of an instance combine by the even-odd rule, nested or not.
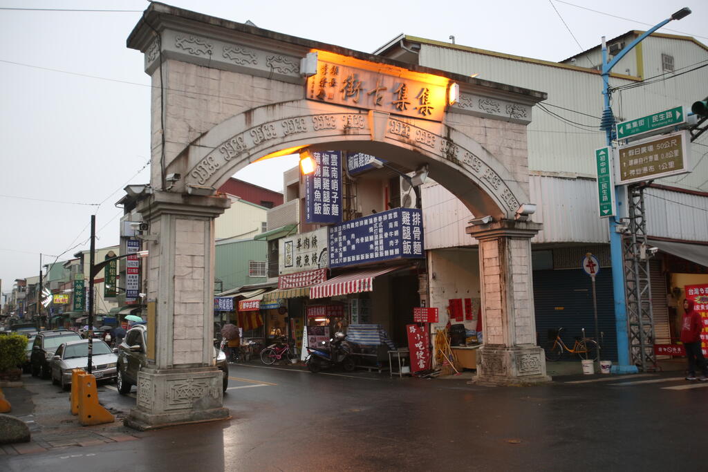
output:
[[[364,52],[400,33],[454,35],[459,45],[550,61],[598,45],[603,35],[646,30],[688,6],[692,15],[661,31],[708,44],[705,0],[166,3]],[[142,13],[13,8],[142,12],[147,1],[0,0],[2,292],[16,278],[38,275],[40,253],[50,263],[88,248],[93,213],[97,246],[117,244],[122,211],[114,204],[125,185],[149,180],[149,80],[142,54],[125,47]],[[236,177],[282,190],[281,172],[292,165],[270,159]]]

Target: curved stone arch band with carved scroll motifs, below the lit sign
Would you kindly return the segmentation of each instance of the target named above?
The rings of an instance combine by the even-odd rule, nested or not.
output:
[[[282,151],[341,149],[385,157],[404,168],[427,164],[436,182],[476,216],[513,219],[528,202],[524,183],[481,144],[442,122],[310,100],[263,105],[225,120],[195,139],[166,173],[217,189],[258,159]]]

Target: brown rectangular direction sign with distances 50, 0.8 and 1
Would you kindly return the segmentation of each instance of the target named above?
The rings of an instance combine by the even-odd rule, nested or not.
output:
[[[690,143],[687,132],[678,132],[620,147],[618,182],[640,182],[687,172],[690,154],[685,152],[687,143]]]

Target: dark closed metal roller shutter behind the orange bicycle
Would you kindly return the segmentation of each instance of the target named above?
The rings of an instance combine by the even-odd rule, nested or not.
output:
[[[590,277],[580,269],[537,270],[533,272],[536,332],[541,347],[547,345],[548,331],[563,327],[563,340],[573,347],[575,336],[585,328],[588,338],[595,336],[593,288]],[[602,357],[617,360],[612,271],[600,270],[595,280],[598,298],[598,328],[604,333]],[[566,353],[566,359],[578,359]]]

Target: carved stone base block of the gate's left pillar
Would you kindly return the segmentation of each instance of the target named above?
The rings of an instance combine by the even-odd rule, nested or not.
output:
[[[222,406],[223,375],[216,367],[142,369],[137,380],[137,406],[123,422],[145,431],[231,418],[229,409]]]

